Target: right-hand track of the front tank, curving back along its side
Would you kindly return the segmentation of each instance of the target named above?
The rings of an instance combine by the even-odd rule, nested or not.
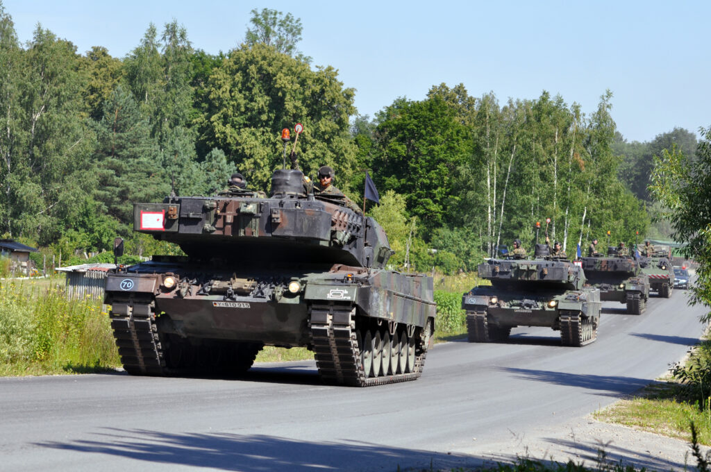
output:
[[[355,328],[355,307],[352,304],[314,304],[310,307],[311,337],[314,358],[321,378],[327,382],[353,387],[372,387],[417,380],[422,375],[427,353],[415,345],[415,365],[412,372],[381,372],[368,377],[363,370],[358,331]],[[387,330],[387,323],[381,329]],[[405,334],[405,331],[402,331]],[[415,335],[416,339],[419,336]]]

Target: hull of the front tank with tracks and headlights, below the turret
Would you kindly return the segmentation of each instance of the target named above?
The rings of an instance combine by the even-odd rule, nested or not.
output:
[[[319,342],[336,341],[328,338],[333,334],[333,326],[330,331],[326,328],[325,338],[322,326],[334,322],[337,316],[333,313],[341,313],[341,318],[348,318],[349,338],[371,333],[373,338],[387,336],[390,339],[390,335],[398,333],[407,340],[412,339],[414,360],[410,370],[406,362],[402,372],[396,369],[387,375],[383,374],[381,365],[380,375],[374,375],[371,367],[369,376],[357,365],[365,350],[361,341],[361,345],[351,346],[355,352],[348,353],[355,359],[347,372],[350,377],[344,377],[343,372],[328,375],[326,366],[321,373],[327,380],[365,386],[415,380],[421,374],[424,353],[434,331],[436,306],[431,277],[341,264],[278,270],[233,268],[235,270],[218,271],[189,262],[147,262],[129,267],[126,272],[109,274],[105,302],[112,305],[110,314],[117,322],[114,336],[124,368],[137,374],[181,375],[188,370],[173,361],[179,354],[173,351],[185,345],[222,346],[225,343],[305,347],[314,350],[317,363],[326,366],[337,354],[319,354]],[[168,277],[178,283],[166,287]],[[289,290],[290,284],[296,284],[293,291]],[[122,344],[127,344],[126,338],[140,335],[138,331],[137,334],[126,332],[127,322],[136,331],[134,306],[138,306],[141,313],[149,312],[146,320],[150,327],[144,330],[144,335],[149,336],[149,331],[156,335],[149,348],[122,348]],[[333,313],[316,320],[324,310]],[[146,350],[149,352],[140,359]],[[146,369],[146,365],[150,368]]]

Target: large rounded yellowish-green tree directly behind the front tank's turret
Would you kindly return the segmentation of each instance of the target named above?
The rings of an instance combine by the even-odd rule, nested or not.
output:
[[[353,89],[343,88],[336,70],[311,70],[267,45],[242,46],[213,70],[208,97],[198,122],[201,149],[222,149],[254,188],[266,188],[282,166],[282,129],[301,122],[301,170],[314,176],[320,166],[333,166],[348,194],[357,171],[348,123],[355,107]]]

